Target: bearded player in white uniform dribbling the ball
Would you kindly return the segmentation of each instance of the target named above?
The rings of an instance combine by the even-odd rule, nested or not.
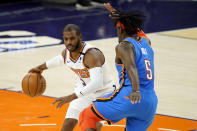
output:
[[[73,131],[80,112],[92,104],[97,97],[115,90],[113,77],[108,70],[103,53],[93,46],[82,42],[80,28],[68,24],[63,30],[66,48],[51,60],[31,69],[29,72],[42,73],[43,70],[66,64],[76,73],[76,87],[74,93],[56,99],[57,108],[69,103],[62,131]],[[98,130],[101,124],[98,124]]]

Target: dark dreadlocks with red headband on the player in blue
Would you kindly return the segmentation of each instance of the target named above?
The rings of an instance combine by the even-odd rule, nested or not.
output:
[[[145,15],[140,11],[117,12],[118,19],[115,20],[115,25],[125,30],[127,35],[137,34],[142,30],[145,21]]]

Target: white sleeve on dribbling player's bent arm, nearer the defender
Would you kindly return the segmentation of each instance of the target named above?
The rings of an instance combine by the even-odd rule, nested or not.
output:
[[[95,67],[89,70],[90,82],[81,90],[75,91],[78,97],[89,95],[103,87],[103,70],[101,67]]]

